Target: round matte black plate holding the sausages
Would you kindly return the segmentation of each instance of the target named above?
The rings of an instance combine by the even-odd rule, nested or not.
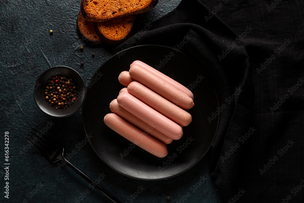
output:
[[[168,147],[168,156],[158,158],[121,137],[104,122],[111,113],[109,104],[123,86],[118,75],[140,60],[159,68],[181,84],[192,88],[194,107],[187,110],[192,122],[183,127],[184,135]],[[157,65],[157,66],[156,66]],[[204,77],[203,79],[201,79]],[[190,86],[191,84],[191,86]],[[219,107],[211,80],[195,61],[170,47],[143,45],[126,49],[107,60],[93,75],[82,107],[85,132],[93,136],[90,144],[96,154],[112,169],[140,180],[161,180],[174,177],[194,166],[207,152],[216,135],[218,117],[209,123],[207,117]]]

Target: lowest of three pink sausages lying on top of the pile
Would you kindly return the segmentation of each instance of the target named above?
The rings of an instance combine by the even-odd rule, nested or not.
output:
[[[146,122],[169,138],[178,140],[183,135],[180,125],[149,107],[136,97],[123,92],[117,97],[117,103],[140,120]]]

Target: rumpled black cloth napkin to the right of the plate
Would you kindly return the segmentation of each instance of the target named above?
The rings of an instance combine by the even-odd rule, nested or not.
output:
[[[224,202],[304,202],[303,8],[183,0],[116,48],[174,47],[210,75],[220,105],[210,174]]]

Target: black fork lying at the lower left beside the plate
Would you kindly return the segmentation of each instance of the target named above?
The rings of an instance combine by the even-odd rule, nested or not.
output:
[[[81,177],[88,181],[88,183],[92,184],[98,191],[102,192],[102,194],[104,194],[107,198],[109,198],[113,202],[122,203],[116,197],[106,191],[105,188],[98,185],[94,180],[92,180],[90,177],[85,175],[78,168],[68,162],[67,159],[65,159],[63,156],[64,148],[62,146],[42,134],[38,135],[38,131],[36,131],[34,128],[32,129],[36,133],[30,131],[32,135],[27,134],[30,139],[26,137],[25,138],[42,154],[45,159],[47,159],[50,163],[55,163],[57,161],[64,160],[67,165],[71,167],[71,169],[73,169],[76,173],[78,173]]]

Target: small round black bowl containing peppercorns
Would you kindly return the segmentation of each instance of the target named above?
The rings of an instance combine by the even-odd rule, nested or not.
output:
[[[75,83],[76,89],[78,91],[76,96],[76,101],[71,106],[64,109],[56,109],[51,106],[50,103],[45,99],[44,90],[48,84],[48,80],[56,75],[66,76],[67,78],[72,78]],[[67,66],[55,66],[44,71],[36,80],[34,85],[34,100],[37,107],[45,114],[62,118],[71,116],[76,113],[85,101],[86,96],[86,85],[85,80],[81,75],[72,68]]]

